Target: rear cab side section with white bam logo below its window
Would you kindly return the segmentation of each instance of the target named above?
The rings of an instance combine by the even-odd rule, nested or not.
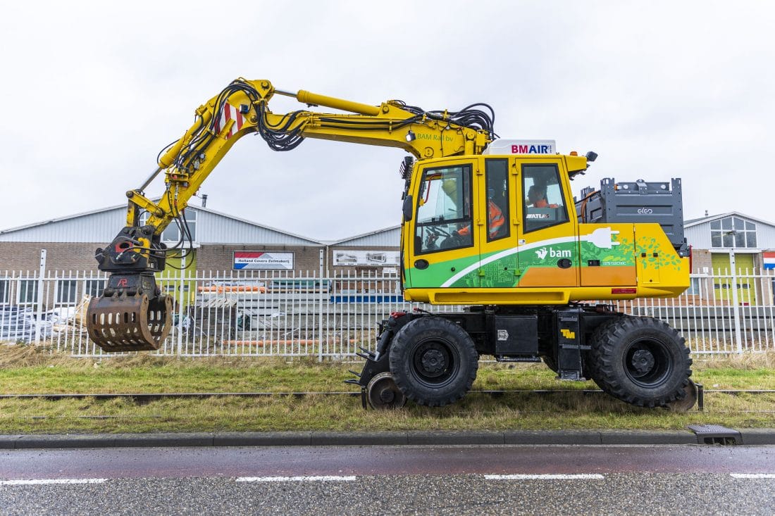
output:
[[[578,222],[562,157],[517,158],[519,287],[577,287]]]

